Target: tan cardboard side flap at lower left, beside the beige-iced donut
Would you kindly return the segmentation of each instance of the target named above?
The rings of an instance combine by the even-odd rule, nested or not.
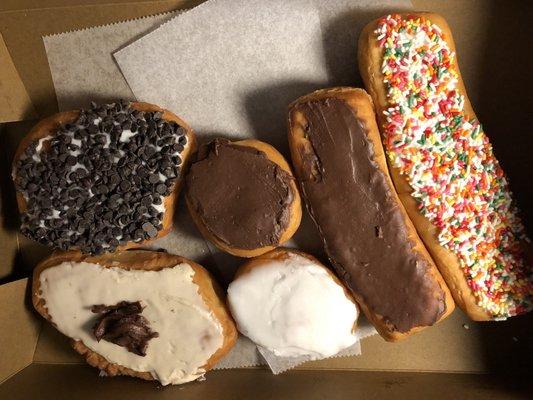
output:
[[[41,324],[26,304],[27,287],[28,279],[0,286],[0,382],[33,359]]]

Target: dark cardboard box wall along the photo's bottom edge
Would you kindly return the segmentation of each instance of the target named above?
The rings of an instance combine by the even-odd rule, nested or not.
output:
[[[215,371],[205,382],[161,387],[132,378],[101,378],[82,365],[33,364],[0,386],[0,398],[158,400],[524,399],[532,388],[516,376],[404,372]],[[529,392],[531,394],[531,392]]]

